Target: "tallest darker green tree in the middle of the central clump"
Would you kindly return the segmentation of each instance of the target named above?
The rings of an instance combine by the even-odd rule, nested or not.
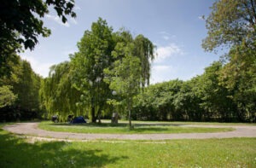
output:
[[[96,110],[99,115],[106,103],[110,91],[103,81],[103,69],[113,62],[112,27],[100,18],[92,23],[91,31],[85,31],[79,41],[79,52],[71,57],[74,86],[90,99],[90,115],[96,122]]]

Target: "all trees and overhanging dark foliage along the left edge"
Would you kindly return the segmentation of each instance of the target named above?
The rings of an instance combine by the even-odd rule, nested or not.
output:
[[[14,0],[0,4],[0,121],[41,116],[40,78],[27,61],[20,60],[22,49],[34,49],[38,36],[48,37],[42,18],[49,6],[65,23],[76,17],[74,0]]]

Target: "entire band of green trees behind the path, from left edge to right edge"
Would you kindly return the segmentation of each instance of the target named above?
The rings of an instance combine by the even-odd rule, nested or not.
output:
[[[207,17],[208,52],[225,49],[201,75],[149,84],[155,47],[143,35],[113,32],[106,20],[92,23],[70,61],[41,78],[14,50],[1,67],[0,120],[83,115],[92,122],[124,119],[220,122],[256,121],[256,3],[223,0]],[[114,94],[113,94],[114,93]]]

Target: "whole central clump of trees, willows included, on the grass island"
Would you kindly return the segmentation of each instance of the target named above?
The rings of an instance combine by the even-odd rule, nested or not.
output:
[[[126,105],[131,116],[133,96],[149,84],[153,43],[125,30],[113,32],[100,18],[84,32],[78,48],[70,61],[51,67],[44,79],[40,95],[45,109],[61,119],[86,112],[96,122],[113,105]],[[113,99],[113,90],[119,98]]]

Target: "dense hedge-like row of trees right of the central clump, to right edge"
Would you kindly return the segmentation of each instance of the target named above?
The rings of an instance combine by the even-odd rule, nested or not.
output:
[[[256,1],[221,0],[211,9],[202,47],[227,53],[201,76],[149,86],[135,118],[256,121]]]

